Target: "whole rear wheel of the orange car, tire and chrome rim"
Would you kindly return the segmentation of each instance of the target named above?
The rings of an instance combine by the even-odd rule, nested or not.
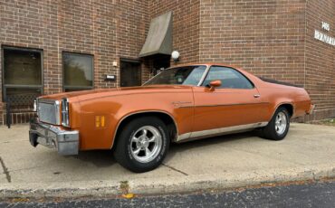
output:
[[[268,125],[263,128],[263,137],[272,140],[282,140],[290,128],[290,115],[287,109],[277,109]]]

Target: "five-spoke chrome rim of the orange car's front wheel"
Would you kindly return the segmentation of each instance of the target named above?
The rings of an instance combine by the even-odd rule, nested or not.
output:
[[[162,136],[153,126],[139,128],[131,137],[131,155],[139,163],[148,163],[154,160],[162,147]]]

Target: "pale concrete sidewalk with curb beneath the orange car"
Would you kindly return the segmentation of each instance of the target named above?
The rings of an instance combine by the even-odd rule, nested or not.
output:
[[[0,197],[167,194],[335,176],[335,128],[293,123],[282,141],[253,132],[172,145],[164,165],[133,174],[110,151],[58,156],[28,126],[0,128]],[[4,173],[3,173],[4,172]]]

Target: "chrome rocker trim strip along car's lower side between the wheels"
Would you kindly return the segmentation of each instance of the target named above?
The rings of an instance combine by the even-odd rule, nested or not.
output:
[[[209,130],[203,130],[203,131],[195,131],[195,132],[189,132],[186,134],[179,135],[176,139],[176,142],[186,142],[189,140],[204,138],[204,137],[212,137],[212,136],[220,136],[230,133],[237,133],[237,132],[243,132],[247,130],[252,130],[254,128],[262,128],[265,127],[268,124],[268,122],[259,122],[259,123],[253,123],[253,124],[245,124],[245,125],[239,125],[234,127],[227,127],[227,128],[214,128]]]

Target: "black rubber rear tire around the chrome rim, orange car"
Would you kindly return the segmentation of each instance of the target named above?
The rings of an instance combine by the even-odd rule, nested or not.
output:
[[[282,131],[280,131],[279,128],[276,127],[276,118],[279,117],[279,115],[284,116],[286,122],[286,127]],[[279,141],[286,137],[289,128],[290,114],[287,109],[285,109],[284,107],[280,107],[274,112],[273,118],[271,118],[268,125],[262,129],[262,137]]]

